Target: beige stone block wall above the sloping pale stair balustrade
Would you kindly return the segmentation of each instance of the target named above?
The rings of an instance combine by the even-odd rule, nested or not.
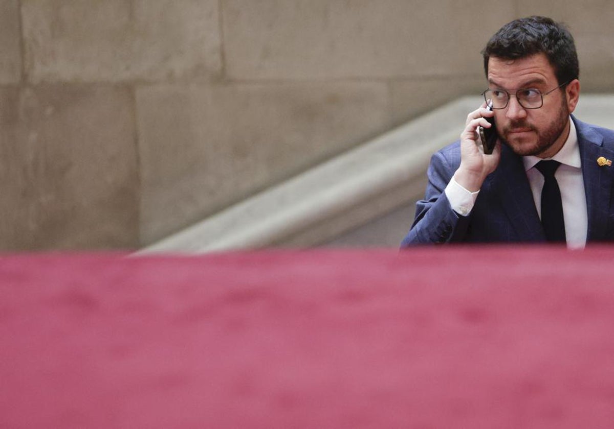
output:
[[[147,245],[479,93],[535,13],[614,89],[608,1],[1,0],[0,250]]]

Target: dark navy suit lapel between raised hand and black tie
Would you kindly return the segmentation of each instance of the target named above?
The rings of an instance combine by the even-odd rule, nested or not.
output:
[[[545,241],[522,158],[502,145],[499,167],[492,173],[493,191],[520,241]]]

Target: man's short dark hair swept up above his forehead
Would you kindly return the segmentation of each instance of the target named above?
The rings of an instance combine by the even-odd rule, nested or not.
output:
[[[567,28],[546,17],[528,17],[511,21],[497,31],[482,51],[484,72],[488,78],[488,59],[526,58],[544,53],[554,69],[559,85],[580,75],[578,55]]]

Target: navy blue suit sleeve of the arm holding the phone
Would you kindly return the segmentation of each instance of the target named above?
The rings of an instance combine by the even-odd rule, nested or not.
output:
[[[426,193],[424,199],[416,203],[416,216],[401,243],[402,248],[464,240],[471,214],[466,217],[457,214],[444,192],[456,169],[457,165],[451,164],[444,152],[433,154],[427,170]]]

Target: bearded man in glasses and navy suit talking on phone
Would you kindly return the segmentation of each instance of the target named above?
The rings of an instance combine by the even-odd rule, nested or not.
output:
[[[431,158],[402,246],[614,240],[614,131],[571,115],[580,82],[569,31],[550,18],[515,20],[482,54],[484,103],[461,139]],[[476,130],[491,117],[499,139],[484,154]]]

